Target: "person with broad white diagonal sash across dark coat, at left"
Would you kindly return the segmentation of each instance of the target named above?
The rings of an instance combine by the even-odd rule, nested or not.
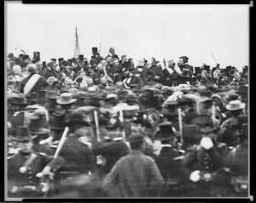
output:
[[[20,82],[20,93],[34,93],[48,87],[49,84],[45,78],[37,74],[36,65],[28,65],[27,70],[30,75]]]

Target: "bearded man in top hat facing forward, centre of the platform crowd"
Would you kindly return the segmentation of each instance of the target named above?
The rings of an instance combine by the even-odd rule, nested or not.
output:
[[[138,76],[133,74],[134,68],[131,65],[131,62],[125,62],[124,64],[124,73],[125,73],[125,80],[123,81],[123,85],[126,89],[131,89],[131,85],[137,85],[137,89],[143,87],[143,81]]]

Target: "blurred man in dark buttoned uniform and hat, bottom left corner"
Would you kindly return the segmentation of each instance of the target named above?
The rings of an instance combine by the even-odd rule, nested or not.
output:
[[[32,151],[32,138],[26,127],[17,128],[15,141],[19,143],[19,152],[8,160],[8,197],[42,198],[45,191],[40,186],[42,175],[63,165],[64,159]]]

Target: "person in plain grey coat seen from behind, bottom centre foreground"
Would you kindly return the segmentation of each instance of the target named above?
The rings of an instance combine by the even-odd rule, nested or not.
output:
[[[154,160],[143,155],[143,135],[132,134],[129,140],[132,149],[130,155],[125,155],[115,163],[104,179],[103,187],[108,193],[119,189],[119,194],[112,194],[118,197],[156,196],[163,178]]]

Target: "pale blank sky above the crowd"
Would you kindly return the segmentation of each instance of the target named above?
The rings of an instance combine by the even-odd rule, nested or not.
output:
[[[7,52],[21,48],[41,60],[73,58],[75,27],[81,54],[102,40],[101,55],[110,47],[119,57],[162,61],[189,57],[189,64],[241,70],[249,63],[248,5],[57,5],[7,3]]]

